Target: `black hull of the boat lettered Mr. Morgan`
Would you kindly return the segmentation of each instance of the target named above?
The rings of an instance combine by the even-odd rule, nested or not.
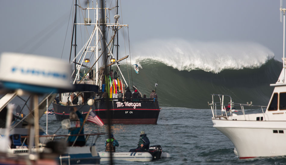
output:
[[[109,111],[107,110],[107,106]],[[92,107],[104,123],[107,123],[110,115],[112,124],[157,124],[160,113],[159,103],[157,100],[110,100],[108,105],[104,100],[95,101],[93,106],[63,106],[53,103],[54,114],[57,120],[69,118],[69,113],[74,108],[85,117]],[[110,113],[108,113],[110,112]]]

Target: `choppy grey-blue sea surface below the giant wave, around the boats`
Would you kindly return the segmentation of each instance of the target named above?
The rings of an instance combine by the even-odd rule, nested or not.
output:
[[[136,148],[140,131],[145,131],[150,145],[161,145],[163,152],[168,152],[172,158],[151,162],[115,161],[115,164],[286,164],[286,157],[239,159],[233,152],[232,142],[213,128],[209,109],[161,108],[157,125],[112,125],[114,137],[119,142],[116,152],[128,152]],[[46,128],[46,115],[41,118],[40,125]],[[53,134],[59,127],[61,123],[56,121],[55,116],[48,115],[48,133]],[[107,126],[87,123],[84,131],[106,133]],[[67,130],[60,129],[57,134],[67,134]],[[98,151],[104,151],[106,139],[107,134],[97,140],[96,137],[90,137],[88,144],[95,143]],[[101,164],[109,162],[101,161]]]

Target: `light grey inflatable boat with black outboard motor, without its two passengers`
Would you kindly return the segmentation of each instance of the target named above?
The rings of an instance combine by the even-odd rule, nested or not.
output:
[[[98,152],[98,156],[100,157],[100,161],[108,161],[110,159],[110,152]],[[148,152],[113,152],[112,158],[123,161],[149,162],[161,158],[171,158],[171,155],[162,152],[161,146],[156,145],[150,146]]]

